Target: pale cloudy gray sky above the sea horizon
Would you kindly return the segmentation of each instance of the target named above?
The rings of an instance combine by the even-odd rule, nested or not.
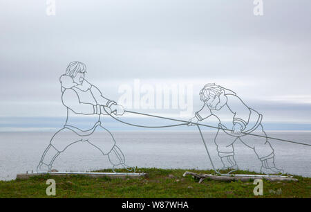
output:
[[[311,1],[263,3],[264,15],[255,16],[252,0],[56,0],[48,16],[46,1],[3,0],[0,127],[63,117],[59,76],[73,60],[115,100],[134,79],[182,83],[193,85],[196,110],[200,88],[216,82],[267,123],[311,124]]]

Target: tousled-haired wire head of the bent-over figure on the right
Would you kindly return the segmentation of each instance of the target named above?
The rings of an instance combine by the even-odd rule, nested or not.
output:
[[[209,109],[221,109],[227,103],[225,91],[219,85],[209,83],[200,90],[200,100],[209,107]]]

